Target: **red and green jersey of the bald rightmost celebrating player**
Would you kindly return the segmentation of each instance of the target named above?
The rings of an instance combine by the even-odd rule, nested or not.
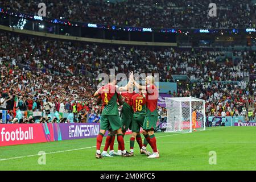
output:
[[[146,116],[158,116],[158,88],[155,85],[147,85],[146,89]]]

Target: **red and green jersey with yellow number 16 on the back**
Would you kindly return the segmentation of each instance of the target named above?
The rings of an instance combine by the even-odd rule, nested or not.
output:
[[[137,118],[146,114],[146,100],[142,94],[135,94],[131,97],[133,101],[133,117]]]

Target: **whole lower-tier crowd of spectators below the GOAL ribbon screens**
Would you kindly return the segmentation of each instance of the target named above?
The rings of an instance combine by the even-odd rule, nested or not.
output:
[[[207,114],[243,115],[256,100],[252,97],[256,96],[255,82],[245,81],[249,73],[255,74],[254,51],[233,51],[240,58],[221,61],[221,51],[110,47],[6,32],[0,35],[0,107],[13,112],[10,119],[18,115],[20,121],[19,111],[57,111],[71,113],[78,122],[100,121],[101,107],[92,93],[97,89],[98,74],[109,73],[111,68],[116,73],[160,73],[160,81],[188,75],[189,88],[179,85],[177,93],[170,94],[203,98]],[[165,117],[163,108],[159,107],[159,113]]]

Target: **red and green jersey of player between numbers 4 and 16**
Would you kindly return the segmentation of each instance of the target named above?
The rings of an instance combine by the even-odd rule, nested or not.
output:
[[[133,97],[133,93],[121,93],[123,97],[125,97],[125,102],[123,103],[123,107],[121,110],[121,118],[133,118],[133,101],[131,100],[131,97]]]

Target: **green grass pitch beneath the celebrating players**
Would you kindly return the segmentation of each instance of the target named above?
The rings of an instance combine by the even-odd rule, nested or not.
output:
[[[3,170],[255,170],[256,127],[211,127],[194,133],[156,133],[160,158],[139,154],[135,142],[130,158],[95,159],[96,138],[0,147]],[[125,136],[126,149],[130,135]],[[105,138],[102,144],[105,143]],[[115,143],[115,150],[117,143]],[[151,151],[150,146],[147,147]],[[102,151],[103,147],[101,148]],[[39,165],[39,151],[46,165]],[[215,151],[217,164],[209,164]]]

